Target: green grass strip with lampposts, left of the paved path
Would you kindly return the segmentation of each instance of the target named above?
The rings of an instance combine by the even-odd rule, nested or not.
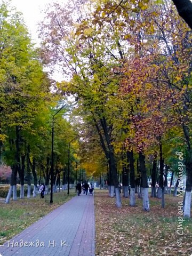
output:
[[[73,196],[76,196],[75,189],[71,189],[69,195],[66,191],[54,193],[52,204],[50,204],[50,195],[45,195],[43,199],[37,196],[18,199],[18,201],[11,200],[9,204],[5,204],[3,199],[0,200],[0,244],[8,241]]]

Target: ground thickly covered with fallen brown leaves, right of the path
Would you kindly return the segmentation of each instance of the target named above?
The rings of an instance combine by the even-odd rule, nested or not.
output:
[[[95,255],[191,255],[191,218],[182,222],[183,235],[177,234],[179,201],[181,198],[165,195],[162,209],[161,199],[150,198],[150,211],[143,212],[142,199],[131,207],[129,199],[122,198],[123,206],[117,209],[107,190],[95,190]],[[177,245],[179,239],[182,247]]]

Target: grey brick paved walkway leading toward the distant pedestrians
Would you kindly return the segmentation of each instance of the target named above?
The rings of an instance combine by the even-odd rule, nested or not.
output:
[[[0,247],[0,256],[94,256],[94,196],[72,198]]]

